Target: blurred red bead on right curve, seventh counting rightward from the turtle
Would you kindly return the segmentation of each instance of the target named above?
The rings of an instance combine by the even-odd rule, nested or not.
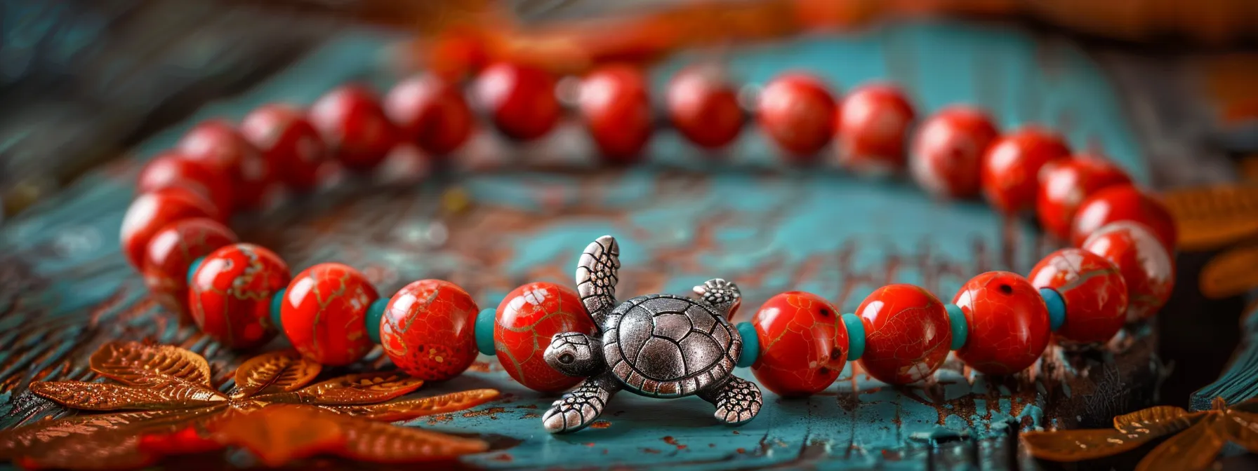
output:
[[[1044,232],[1069,240],[1074,212],[1088,196],[1111,185],[1131,183],[1118,166],[1096,157],[1053,162],[1039,176],[1035,215]]]

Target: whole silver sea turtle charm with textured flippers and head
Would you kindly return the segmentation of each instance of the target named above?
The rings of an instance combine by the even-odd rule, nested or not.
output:
[[[712,279],[694,286],[699,299],[652,294],[616,305],[620,247],[603,236],[585,247],[576,266],[576,290],[599,333],[556,334],[546,363],[586,378],[542,416],[546,431],[585,428],[618,391],[658,398],[698,394],[716,406],[716,418],[740,425],[756,417],[760,388],[732,374],[742,337],[730,324],[738,286]]]

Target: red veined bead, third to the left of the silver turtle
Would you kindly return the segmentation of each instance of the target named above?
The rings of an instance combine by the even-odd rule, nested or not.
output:
[[[279,322],[302,357],[350,364],[371,350],[366,318],[376,299],[376,289],[359,270],[318,264],[293,276],[279,303]]]

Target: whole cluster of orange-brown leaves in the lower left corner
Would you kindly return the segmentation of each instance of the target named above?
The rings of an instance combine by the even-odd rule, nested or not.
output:
[[[127,411],[42,421],[0,432],[0,460],[26,468],[133,468],[164,456],[238,446],[268,466],[313,455],[374,462],[445,460],[483,441],[387,422],[469,408],[494,389],[398,399],[423,381],[392,372],[311,384],[320,365],[296,352],[244,362],[230,394],[215,389],[205,358],[177,347],[109,343],[89,359],[114,383],[38,382],[30,391],[67,407]]]

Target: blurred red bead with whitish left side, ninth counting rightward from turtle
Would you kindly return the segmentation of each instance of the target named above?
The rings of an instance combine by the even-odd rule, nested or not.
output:
[[[910,167],[913,180],[931,195],[967,198],[979,195],[982,153],[995,141],[988,113],[951,106],[935,113],[913,137]]]

